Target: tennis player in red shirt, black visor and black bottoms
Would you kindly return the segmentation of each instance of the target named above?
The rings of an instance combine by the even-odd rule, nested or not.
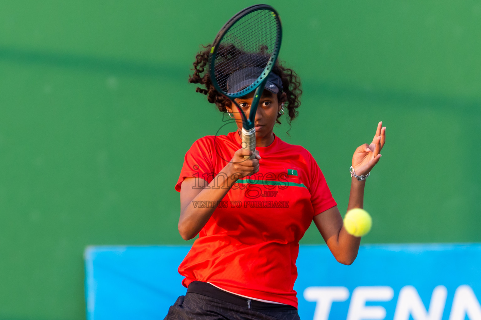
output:
[[[314,157],[273,132],[276,122],[286,117],[290,123],[298,114],[302,91],[296,73],[277,63],[269,75],[255,115],[255,158],[246,160],[252,152],[241,148],[241,116],[204,72],[209,52],[206,47],[197,55],[189,81],[203,85],[197,92],[237,127],[228,135],[200,138],[185,155],[175,186],[178,230],[185,240],[199,238],[178,268],[187,293],[165,319],[299,319],[295,262],[311,222],[343,264],[354,261],[360,238],[344,229]],[[252,83],[253,73],[235,71],[229,87],[238,91]],[[235,101],[248,114],[252,100],[250,94]],[[373,141],[354,151],[347,210],[363,207],[365,179],[380,159],[385,130],[379,122]]]

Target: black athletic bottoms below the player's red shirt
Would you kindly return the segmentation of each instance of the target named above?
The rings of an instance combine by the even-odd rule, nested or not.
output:
[[[300,320],[297,309],[288,305],[251,300],[228,293],[206,282],[189,284],[164,320]]]

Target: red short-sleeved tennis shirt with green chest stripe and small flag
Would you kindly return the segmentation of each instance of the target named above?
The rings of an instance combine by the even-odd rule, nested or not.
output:
[[[187,177],[210,183],[240,148],[237,132],[197,140],[185,155],[176,190]],[[277,136],[269,146],[256,149],[262,157],[259,172],[239,179],[218,203],[178,272],[185,276],[186,287],[195,280],[209,282],[297,308],[293,286],[299,240],[316,214],[337,203],[306,149]],[[223,178],[215,179],[215,187],[222,187]]]

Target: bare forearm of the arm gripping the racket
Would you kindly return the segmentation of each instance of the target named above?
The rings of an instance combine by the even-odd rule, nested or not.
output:
[[[227,178],[226,178],[227,177]],[[205,185],[196,184],[194,188],[203,188],[191,201],[181,208],[178,230],[183,239],[195,237],[209,221],[217,208],[219,201],[224,199],[232,185],[237,181],[237,175],[219,172],[214,179]],[[187,186],[187,188],[192,186]]]

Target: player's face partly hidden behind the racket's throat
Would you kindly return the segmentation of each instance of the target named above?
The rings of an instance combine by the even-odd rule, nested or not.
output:
[[[246,117],[249,117],[253,96],[254,93],[251,93],[249,95],[235,99],[235,101],[242,108],[242,111],[244,111]],[[280,100],[285,100],[285,97],[286,94],[283,93]],[[236,120],[237,127],[239,128],[239,130],[241,130],[242,118],[239,114],[239,110],[235,106],[232,106],[230,108],[228,107],[227,109],[230,113],[233,113],[233,117]],[[255,114],[254,120],[256,139],[270,137],[270,135],[272,134],[272,130],[274,129],[274,125],[276,124],[276,119],[280,109],[281,102],[278,101],[277,95],[271,93],[268,90],[264,90],[259,101],[259,106],[257,107],[257,112]]]

